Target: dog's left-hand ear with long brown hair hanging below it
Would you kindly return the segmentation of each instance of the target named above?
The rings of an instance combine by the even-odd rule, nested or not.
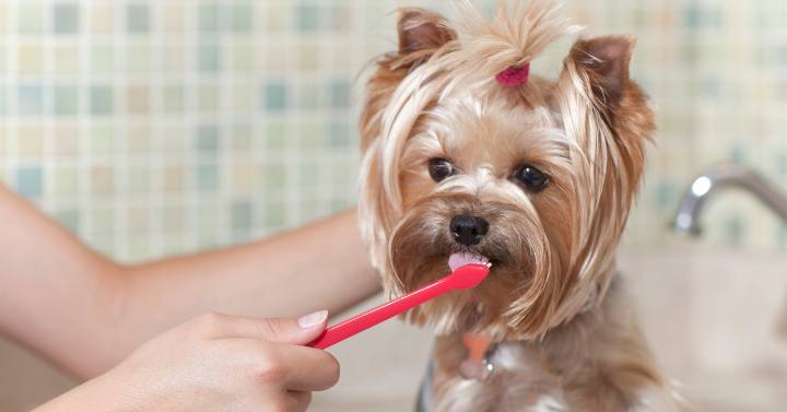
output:
[[[379,133],[379,116],[401,81],[443,46],[457,38],[441,14],[422,9],[402,9],[397,24],[399,49],[383,56],[366,85],[361,116],[363,151]]]

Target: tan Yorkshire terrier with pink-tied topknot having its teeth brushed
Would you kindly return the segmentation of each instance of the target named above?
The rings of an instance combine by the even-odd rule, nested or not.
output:
[[[556,80],[530,61],[578,26],[545,0],[401,10],[371,75],[360,215],[386,291],[490,262],[478,287],[406,319],[437,333],[423,410],[677,411],[615,276],[654,114],[631,36],[574,43]],[[450,262],[449,262],[450,260]]]

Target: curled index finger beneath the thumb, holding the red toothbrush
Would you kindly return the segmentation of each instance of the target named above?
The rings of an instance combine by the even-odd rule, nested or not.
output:
[[[263,379],[286,390],[326,390],[339,380],[339,362],[319,349],[269,343],[260,355]]]

